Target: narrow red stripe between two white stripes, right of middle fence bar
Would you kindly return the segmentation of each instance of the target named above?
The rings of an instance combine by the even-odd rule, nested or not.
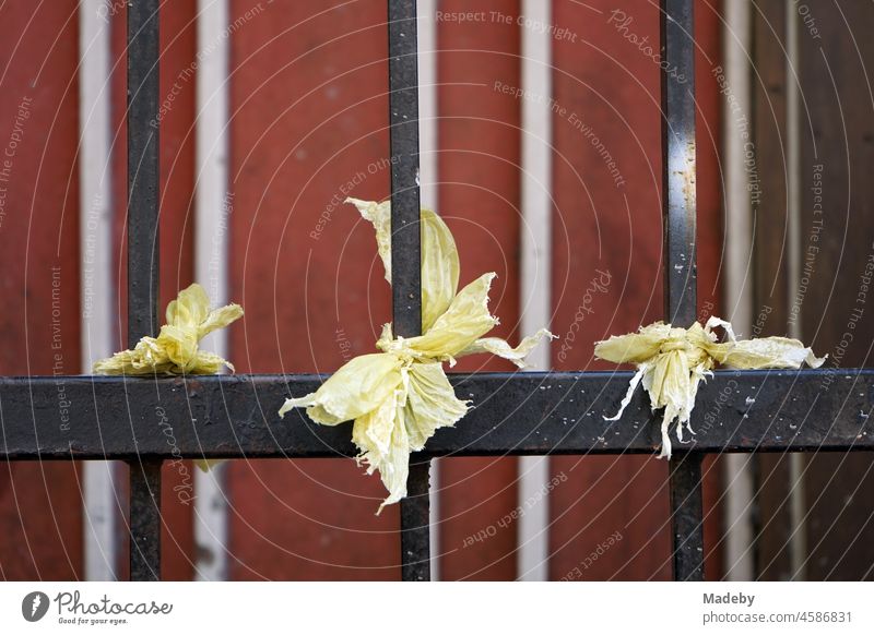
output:
[[[519,336],[520,104],[495,85],[520,82],[519,2],[447,0],[439,10],[440,213],[458,242],[461,284],[498,274],[491,309],[501,325],[494,334],[512,339]],[[452,17],[462,14],[477,21]],[[477,356],[453,370],[512,368]],[[518,504],[516,458],[447,458],[440,470],[444,579],[513,579],[517,527],[505,516]],[[474,540],[481,531],[485,539]]]

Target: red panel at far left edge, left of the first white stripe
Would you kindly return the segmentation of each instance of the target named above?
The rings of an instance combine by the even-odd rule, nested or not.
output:
[[[0,7],[0,374],[79,374],[76,2]],[[58,426],[75,408],[58,381]],[[82,576],[74,465],[0,466],[0,578]]]

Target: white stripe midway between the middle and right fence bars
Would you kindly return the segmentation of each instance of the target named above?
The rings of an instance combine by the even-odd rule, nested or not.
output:
[[[523,0],[522,15],[533,24],[552,24],[551,2]],[[522,245],[521,245],[521,331],[534,333],[552,316],[550,285],[552,265],[552,38],[547,28],[522,28],[522,85],[538,99],[522,100]],[[550,368],[550,347],[541,345],[529,357],[533,369]],[[548,496],[543,496],[550,480],[550,458],[527,456],[519,459],[519,579],[545,580],[548,577]],[[539,501],[527,505],[525,501]]]

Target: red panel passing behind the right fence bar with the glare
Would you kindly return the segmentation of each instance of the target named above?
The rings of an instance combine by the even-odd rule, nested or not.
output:
[[[553,298],[554,331],[562,337],[554,364],[602,369],[609,366],[592,360],[593,342],[663,317],[660,87],[658,60],[650,57],[659,51],[659,10],[643,0],[621,9],[604,1],[556,2],[555,21],[571,36],[554,45]],[[718,19],[699,9],[697,22],[699,44],[713,60]],[[721,224],[714,145],[707,132],[719,130],[711,82],[700,83],[698,98],[704,305],[718,293]],[[580,417],[578,424],[607,430],[604,421]],[[575,568],[582,579],[670,577],[664,463],[653,456],[563,457],[553,469],[568,477],[553,493],[553,578]]]

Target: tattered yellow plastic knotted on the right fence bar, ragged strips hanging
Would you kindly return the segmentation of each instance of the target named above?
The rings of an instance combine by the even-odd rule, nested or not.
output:
[[[720,326],[725,330],[728,342],[718,342],[713,328]],[[811,368],[819,368],[826,360],[814,356],[813,350],[798,339],[763,337],[739,340],[731,324],[716,316],[710,317],[704,327],[697,322],[688,328],[675,328],[661,322],[641,326],[638,333],[595,343],[594,355],[606,361],[637,366],[619,411],[615,417],[604,419],[618,420],[641,382],[649,393],[652,410],[664,408],[659,458],[671,457],[669,429],[674,419],[677,420],[676,435],[681,442],[684,428],[694,434],[689,417],[695,408],[698,384],[706,376],[712,376],[714,364],[745,370],[798,369],[804,362]]]

